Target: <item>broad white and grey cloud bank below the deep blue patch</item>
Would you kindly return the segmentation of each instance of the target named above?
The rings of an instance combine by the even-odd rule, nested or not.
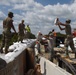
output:
[[[54,25],[54,19],[56,17],[59,17],[60,20],[66,20],[67,18],[72,19],[72,24],[76,27],[76,0],[74,0],[71,4],[61,5],[58,3],[56,5],[46,6],[43,6],[34,0],[2,0],[0,5],[6,5],[6,7],[7,5],[11,6],[11,8],[7,9],[15,11],[14,24],[16,24],[16,28],[18,23],[24,19],[25,24],[30,24],[32,32],[35,34],[39,30],[42,31],[42,33],[48,33],[53,28],[55,28],[56,31],[60,31],[59,28]],[[1,11],[0,14],[2,17],[5,17]]]

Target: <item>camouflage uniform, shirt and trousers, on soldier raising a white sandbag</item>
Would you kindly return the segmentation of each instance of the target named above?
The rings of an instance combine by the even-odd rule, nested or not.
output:
[[[72,37],[70,25],[66,25],[65,32],[66,32],[67,38],[65,39],[64,43],[65,43],[65,47],[66,47],[66,55],[68,55],[68,46],[70,46],[72,51],[75,52],[75,47],[74,47],[74,43],[73,43],[73,37]]]

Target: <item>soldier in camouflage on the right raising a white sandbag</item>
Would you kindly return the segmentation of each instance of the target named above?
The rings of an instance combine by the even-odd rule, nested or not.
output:
[[[70,46],[72,51],[75,52],[75,57],[76,57],[76,50],[75,50],[74,43],[73,43],[70,23],[71,23],[71,20],[68,19],[65,21],[65,23],[58,22],[58,26],[59,26],[60,30],[65,30],[65,32],[66,32],[67,38],[65,39],[65,42],[64,42],[65,47],[66,47],[66,57],[69,56],[68,46]],[[64,26],[64,28],[62,28],[60,25]]]

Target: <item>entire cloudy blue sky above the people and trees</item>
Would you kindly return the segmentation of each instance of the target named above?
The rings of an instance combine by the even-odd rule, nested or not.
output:
[[[22,19],[25,25],[29,24],[32,33],[41,31],[48,34],[49,31],[59,28],[54,24],[55,18],[65,22],[71,19],[72,29],[76,28],[76,0],[2,0],[0,2],[0,33],[3,31],[2,22],[9,11],[14,13],[14,26],[18,32],[18,24]]]

